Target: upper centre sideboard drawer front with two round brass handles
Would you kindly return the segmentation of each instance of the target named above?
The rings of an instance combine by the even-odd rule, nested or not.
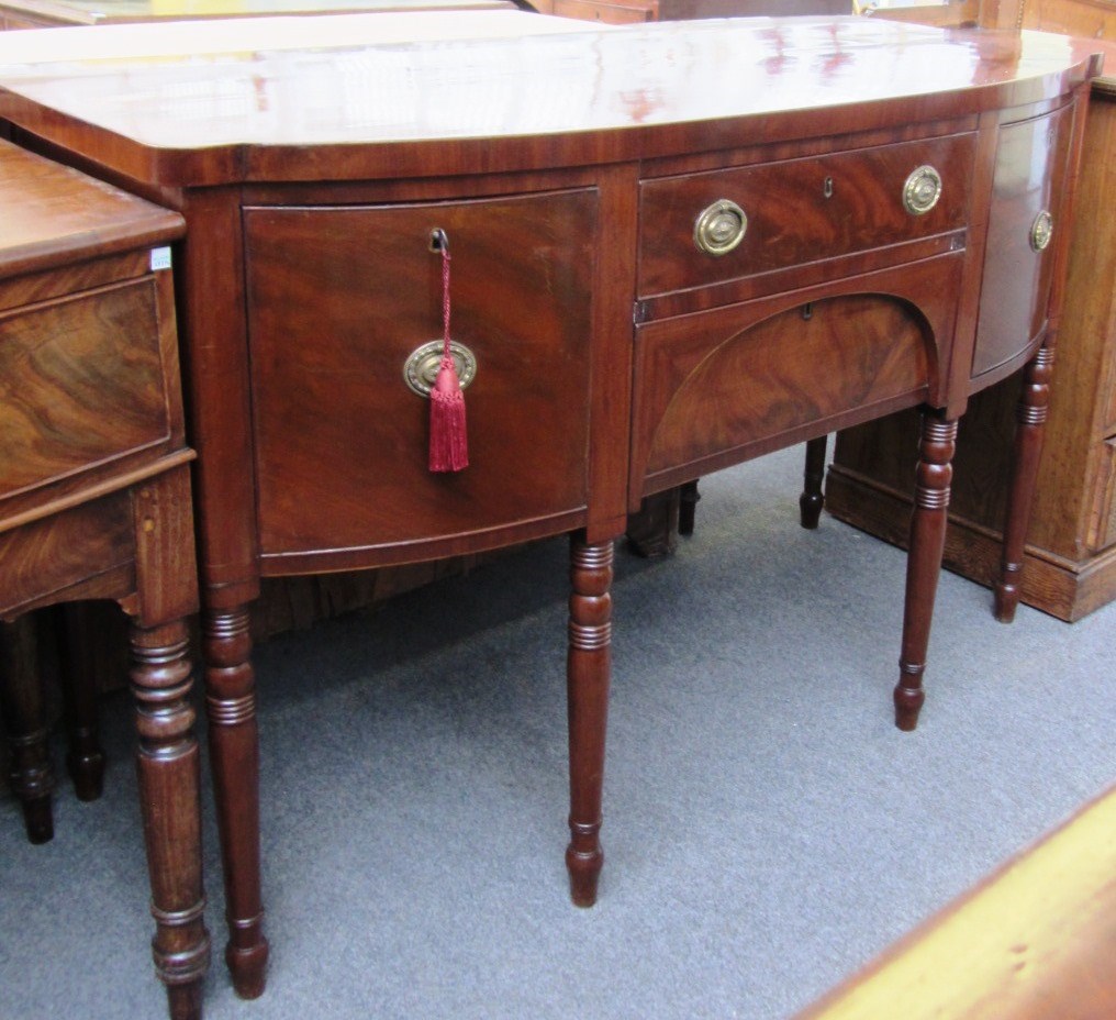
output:
[[[643,181],[639,296],[650,297],[917,240],[965,226],[975,140],[971,134],[902,142]],[[904,204],[907,178],[933,166],[941,194],[926,212]],[[743,210],[735,248],[710,255],[695,241],[703,211]]]

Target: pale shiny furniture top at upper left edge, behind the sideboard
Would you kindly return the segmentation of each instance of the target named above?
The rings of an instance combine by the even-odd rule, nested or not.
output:
[[[76,26],[345,11],[514,10],[516,4],[511,0],[3,0],[0,9]]]

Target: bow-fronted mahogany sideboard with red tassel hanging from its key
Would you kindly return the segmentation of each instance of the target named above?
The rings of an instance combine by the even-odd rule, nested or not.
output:
[[[566,859],[589,905],[627,514],[922,407],[895,689],[914,726],[958,419],[1024,365],[1046,392],[1089,46],[856,18],[129,28],[0,38],[0,116],[186,219],[176,283],[241,994],[262,991],[267,959],[248,631],[263,578],[571,535]],[[469,466],[432,471],[426,390],[458,393],[435,378],[446,344],[469,381]]]

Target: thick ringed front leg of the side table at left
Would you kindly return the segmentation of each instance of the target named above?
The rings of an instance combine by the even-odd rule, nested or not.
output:
[[[210,941],[203,918],[201,769],[189,702],[186,626],[133,626],[131,646],[155,972],[166,984],[172,1020],[199,1020]]]

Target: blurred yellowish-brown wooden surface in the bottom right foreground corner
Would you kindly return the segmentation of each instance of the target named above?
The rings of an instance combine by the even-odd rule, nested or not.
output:
[[[1112,1020],[1116,789],[798,1020]]]

